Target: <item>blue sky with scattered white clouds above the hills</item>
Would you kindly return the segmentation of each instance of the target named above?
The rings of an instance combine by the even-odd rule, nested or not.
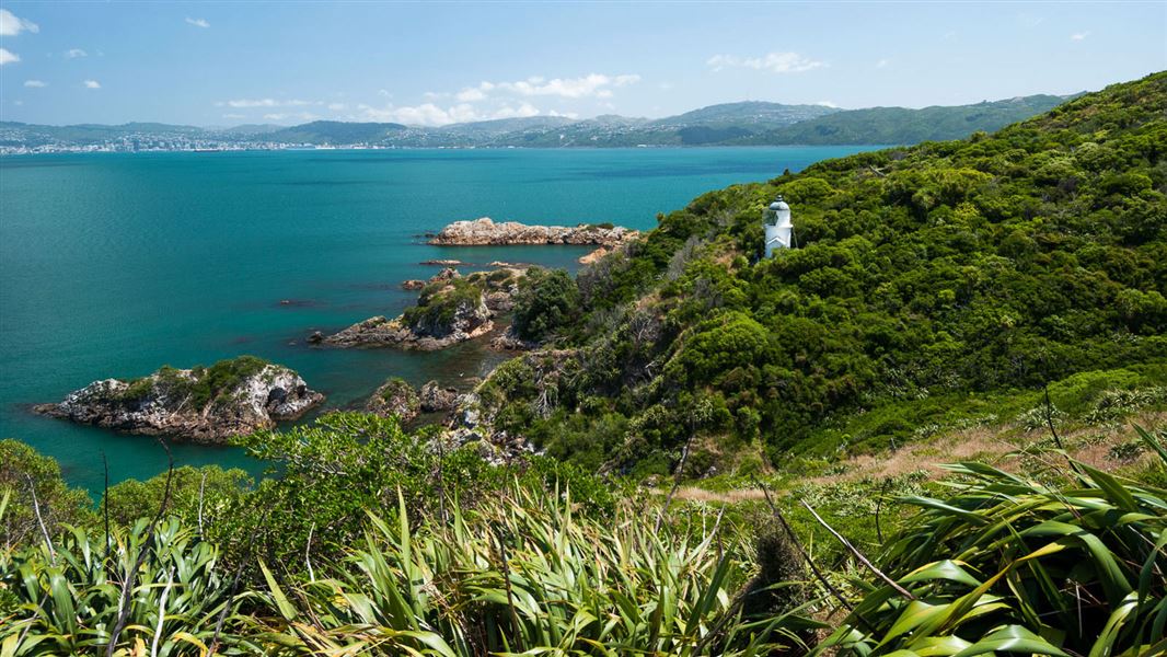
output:
[[[0,0],[0,120],[438,126],[959,105],[1167,69],[1154,2]]]

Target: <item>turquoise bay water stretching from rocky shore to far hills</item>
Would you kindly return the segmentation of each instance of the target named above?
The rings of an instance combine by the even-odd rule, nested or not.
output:
[[[456,384],[491,365],[435,354],[310,349],[314,329],[396,315],[422,260],[575,267],[578,247],[434,247],[421,233],[490,216],[652,228],[658,211],[727,184],[859,147],[603,151],[308,151],[0,159],[0,436],[98,490],[165,470],[152,439],[34,415],[91,380],[254,354],[357,405],[389,376]],[[281,303],[281,300],[292,303]],[[177,445],[176,461],[249,466]]]

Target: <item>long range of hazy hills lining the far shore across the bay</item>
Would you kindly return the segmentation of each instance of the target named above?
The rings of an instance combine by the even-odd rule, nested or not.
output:
[[[397,123],[312,121],[231,128],[132,123],[117,126],[0,124],[0,147],[266,148],[294,145],[391,147],[610,148],[629,146],[911,145],[993,132],[1067,98],[1027,96],[951,107],[839,110],[749,100],[710,105],[663,119],[519,117],[441,127]]]

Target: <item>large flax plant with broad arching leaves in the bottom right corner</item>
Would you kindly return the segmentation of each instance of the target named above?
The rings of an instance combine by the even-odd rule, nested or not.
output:
[[[1138,433],[1167,466],[1160,440]],[[951,495],[906,498],[920,513],[880,566],[913,597],[861,585],[819,651],[1167,653],[1167,490],[1064,462],[1064,487],[960,463],[948,467]]]

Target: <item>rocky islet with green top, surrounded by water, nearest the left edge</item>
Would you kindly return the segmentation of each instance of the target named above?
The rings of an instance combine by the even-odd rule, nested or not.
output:
[[[140,379],[104,379],[34,411],[126,433],[224,442],[299,418],[324,400],[282,365],[244,356],[210,368],[162,368]]]

